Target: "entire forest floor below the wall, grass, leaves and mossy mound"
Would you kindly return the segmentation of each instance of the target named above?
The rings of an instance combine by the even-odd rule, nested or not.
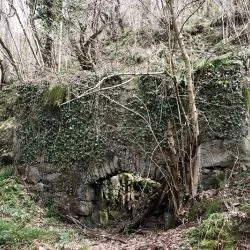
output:
[[[186,223],[174,229],[139,228],[118,234],[121,226],[82,228],[62,221],[53,207],[41,207],[10,166],[0,167],[0,249],[34,250],[184,250],[250,249],[250,173],[232,188],[210,190],[193,207]],[[204,198],[205,197],[205,198]],[[239,234],[240,233],[240,234]],[[237,237],[236,237],[237,235]]]

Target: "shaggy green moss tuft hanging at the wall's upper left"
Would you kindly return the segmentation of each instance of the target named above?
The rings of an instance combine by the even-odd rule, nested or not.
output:
[[[59,106],[66,100],[67,92],[66,85],[52,84],[44,93],[44,105],[49,107]]]

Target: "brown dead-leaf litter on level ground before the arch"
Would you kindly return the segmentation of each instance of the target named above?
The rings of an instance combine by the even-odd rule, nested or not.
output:
[[[64,230],[72,230],[66,225]],[[192,249],[188,242],[184,242],[182,236],[190,228],[190,225],[182,225],[175,229],[139,229],[130,235],[115,234],[110,230],[74,229],[72,238],[64,243],[37,242],[39,250],[68,249],[68,250],[167,250],[167,249]]]

